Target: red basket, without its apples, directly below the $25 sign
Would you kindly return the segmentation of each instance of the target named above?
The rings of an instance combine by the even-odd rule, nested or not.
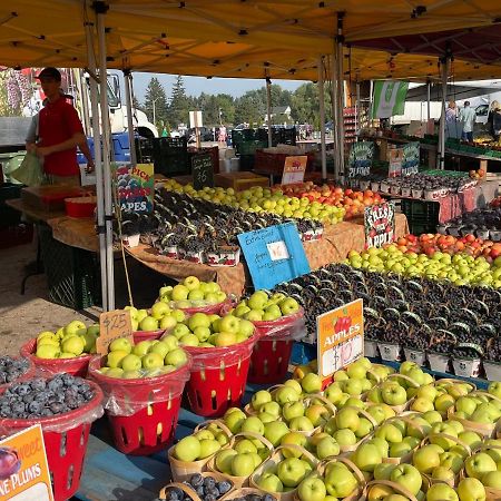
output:
[[[90,361],[89,377],[105,392],[115,446],[132,455],[149,455],[166,449],[174,439],[183,391],[189,380],[189,354],[188,362],[177,371],[137,380],[101,374],[98,370],[102,360],[96,356]]]

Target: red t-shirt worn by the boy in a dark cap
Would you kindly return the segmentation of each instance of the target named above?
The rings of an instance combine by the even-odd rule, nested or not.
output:
[[[53,146],[84,132],[77,110],[65,99],[48,102],[39,114],[39,146]],[[47,155],[43,170],[55,176],[78,176],[77,147]]]

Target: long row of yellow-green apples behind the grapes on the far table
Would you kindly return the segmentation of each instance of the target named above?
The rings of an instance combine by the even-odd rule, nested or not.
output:
[[[283,217],[305,218],[327,224],[336,224],[343,220],[345,210],[341,206],[311,202],[303,197],[287,197],[279,190],[254,186],[243,191],[233,188],[204,188],[196,190],[191,185],[180,186],[168,179],[164,183],[167,190],[184,193],[193,198],[203,198],[214,204],[228,205],[230,207],[249,210],[253,213],[271,213]]]

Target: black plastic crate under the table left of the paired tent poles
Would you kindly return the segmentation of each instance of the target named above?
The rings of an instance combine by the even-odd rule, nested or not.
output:
[[[101,285],[97,255],[62,244],[52,229],[38,225],[49,301],[73,310],[101,304]]]

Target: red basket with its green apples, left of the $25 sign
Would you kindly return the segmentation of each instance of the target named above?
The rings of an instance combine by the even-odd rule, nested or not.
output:
[[[87,327],[84,322],[72,321],[57,332],[41,332],[23,344],[20,353],[49,374],[63,372],[85,377],[98,336],[99,325]]]

